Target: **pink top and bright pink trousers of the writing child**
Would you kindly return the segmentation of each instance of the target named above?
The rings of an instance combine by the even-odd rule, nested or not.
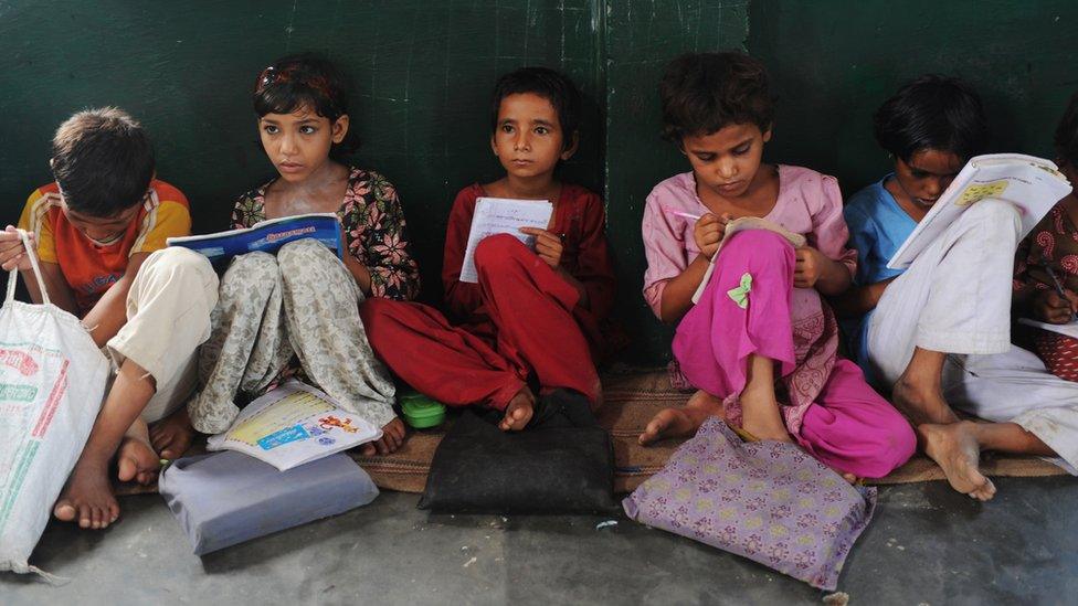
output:
[[[647,199],[644,297],[656,316],[667,281],[699,255],[694,220],[670,210],[708,212],[693,173],[663,181]],[[803,234],[810,246],[853,274],[856,252],[846,247],[848,232],[834,178],[780,166],[778,201],[765,217]],[[781,236],[767,231],[732,236],[699,304],[678,325],[675,358],[689,383],[723,398],[733,425],[741,423],[739,397],[749,355],[775,360],[781,374],[776,396],[797,443],[835,469],[885,476],[912,455],[912,430],[854,363],[838,358],[834,315],[815,289],[793,287],[793,268],[794,249]],[[731,290],[744,276],[752,284],[747,305],[740,307]]]

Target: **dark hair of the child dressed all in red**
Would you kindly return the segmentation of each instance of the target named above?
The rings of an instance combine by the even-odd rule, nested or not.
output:
[[[573,134],[580,130],[580,91],[568,76],[549,67],[520,67],[498,78],[490,99],[490,131],[498,129],[501,99],[522,93],[531,93],[550,102],[558,113],[563,134],[561,147],[572,147]]]

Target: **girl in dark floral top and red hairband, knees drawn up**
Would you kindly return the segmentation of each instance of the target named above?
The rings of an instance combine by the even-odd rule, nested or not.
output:
[[[367,454],[391,453],[404,425],[393,413],[393,382],[367,341],[359,305],[419,293],[397,190],[376,172],[336,160],[353,146],[344,82],[327,61],[299,55],[266,67],[254,106],[279,177],[240,196],[233,227],[335,212],[347,249],[340,259],[317,241],[300,240],[276,255],[232,261],[221,278],[213,334],[202,348],[203,387],[189,405],[191,422],[200,432],[222,432],[239,413],[237,392],[257,396],[283,376],[302,374],[382,427]]]

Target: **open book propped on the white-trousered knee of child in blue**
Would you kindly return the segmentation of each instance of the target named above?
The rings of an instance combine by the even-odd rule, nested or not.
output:
[[[1022,216],[1021,240],[1068,193],[1070,183],[1048,160],[1022,153],[977,156],[966,162],[951,181],[932,210],[887,263],[887,267],[909,267],[917,255],[960,214],[985,198],[1004,200],[1018,208]]]

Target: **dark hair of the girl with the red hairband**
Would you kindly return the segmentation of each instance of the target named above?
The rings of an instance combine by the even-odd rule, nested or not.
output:
[[[292,114],[308,107],[330,123],[348,114],[348,93],[345,76],[328,60],[313,53],[288,55],[273,62],[254,86],[254,110],[266,114]],[[345,140],[335,143],[330,156],[355,151],[359,138],[352,128]]]

